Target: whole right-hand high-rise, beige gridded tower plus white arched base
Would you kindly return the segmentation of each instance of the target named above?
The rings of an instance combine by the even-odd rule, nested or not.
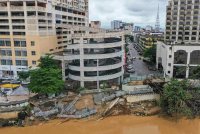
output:
[[[158,42],[157,67],[169,78],[191,78],[200,65],[200,1],[169,0],[165,41]]]

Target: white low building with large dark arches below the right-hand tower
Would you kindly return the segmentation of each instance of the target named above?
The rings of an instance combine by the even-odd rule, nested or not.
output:
[[[190,78],[200,65],[200,45],[157,44],[157,67],[163,68],[165,77]]]

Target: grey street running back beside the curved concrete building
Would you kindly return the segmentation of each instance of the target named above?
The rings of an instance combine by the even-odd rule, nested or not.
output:
[[[148,66],[143,60],[139,60],[139,57],[141,57],[138,52],[135,50],[133,45],[129,45],[129,51],[131,57],[136,57],[136,60],[133,61],[133,67],[135,69],[135,74],[137,75],[149,75],[149,74],[155,74],[155,71],[150,71],[148,69]]]

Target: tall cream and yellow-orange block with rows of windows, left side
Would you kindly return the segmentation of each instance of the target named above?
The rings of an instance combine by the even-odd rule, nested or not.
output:
[[[88,0],[1,0],[0,78],[16,78],[42,55],[62,51],[72,41],[64,25],[88,22]]]

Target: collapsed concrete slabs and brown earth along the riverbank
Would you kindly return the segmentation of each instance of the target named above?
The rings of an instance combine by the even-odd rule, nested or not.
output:
[[[152,94],[152,90],[112,91],[93,94],[68,94],[54,98],[44,96],[30,99],[29,125],[49,119],[103,119],[116,115],[153,115],[159,112],[152,100],[129,102],[127,98]],[[9,124],[9,122],[8,122]],[[7,124],[7,125],[8,125]]]

